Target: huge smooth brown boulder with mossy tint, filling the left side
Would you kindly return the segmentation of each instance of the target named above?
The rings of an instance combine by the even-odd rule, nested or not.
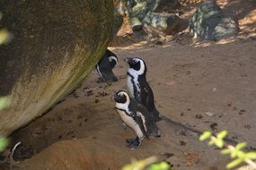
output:
[[[87,76],[110,42],[111,0],[0,2],[13,41],[0,47],[0,136],[43,114]]]

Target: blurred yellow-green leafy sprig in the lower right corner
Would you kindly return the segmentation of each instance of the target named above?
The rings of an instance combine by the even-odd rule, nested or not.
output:
[[[226,136],[227,131],[219,132],[216,134],[216,136],[212,135],[212,132],[207,131],[203,132],[199,140],[203,141],[209,139],[209,146],[215,145],[218,149],[222,149],[221,154],[230,155],[230,157],[234,159],[232,162],[226,165],[227,169],[239,166],[242,163],[246,163],[249,166],[252,166],[253,169],[256,168],[256,163],[254,162],[256,160],[256,152],[244,152],[243,149],[247,145],[245,142],[238,143],[235,147],[226,144],[224,140]]]

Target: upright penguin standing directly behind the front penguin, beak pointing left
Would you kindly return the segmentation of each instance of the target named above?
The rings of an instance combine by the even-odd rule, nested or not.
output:
[[[154,94],[146,81],[146,63],[141,58],[125,58],[129,69],[127,72],[128,94],[131,98],[137,99],[142,105],[146,106],[148,112],[153,115],[154,121],[160,121],[161,115],[154,106]]]

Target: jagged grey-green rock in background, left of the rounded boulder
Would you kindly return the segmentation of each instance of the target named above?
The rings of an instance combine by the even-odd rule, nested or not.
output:
[[[128,9],[129,23],[134,31],[144,29],[151,36],[170,34],[181,21],[173,11],[178,0],[123,0]],[[158,29],[159,28],[159,29]],[[171,31],[172,30],[172,31]]]

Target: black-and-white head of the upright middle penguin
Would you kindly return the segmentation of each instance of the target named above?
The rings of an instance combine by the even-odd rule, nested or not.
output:
[[[134,58],[125,58],[125,62],[128,63],[129,68],[136,72],[137,75],[146,74],[146,64],[143,59],[134,57]]]

